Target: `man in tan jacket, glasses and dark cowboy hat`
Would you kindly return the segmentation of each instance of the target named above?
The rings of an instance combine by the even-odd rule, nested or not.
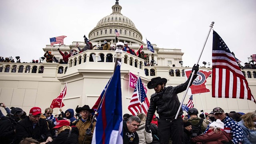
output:
[[[90,120],[90,114],[94,112],[94,110],[90,109],[88,105],[84,105],[83,107],[76,108],[76,112],[81,114],[81,118],[74,122],[75,126],[79,130],[78,143],[82,144],[84,141],[84,137],[86,136],[84,144],[91,144],[96,122],[94,121],[92,126],[90,127],[92,121]]]

